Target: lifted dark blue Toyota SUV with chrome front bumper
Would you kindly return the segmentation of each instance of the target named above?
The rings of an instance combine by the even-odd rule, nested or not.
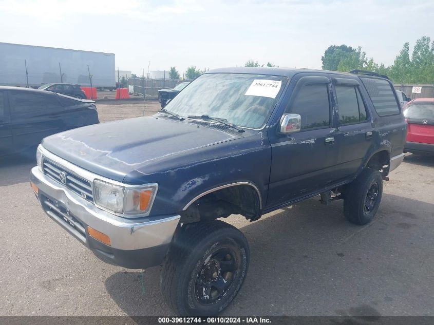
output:
[[[238,293],[249,245],[218,218],[250,221],[320,195],[363,225],[404,158],[407,125],[385,76],[367,71],[209,71],[155,116],[45,138],[31,186],[48,216],[100,259],[163,265],[179,315]]]

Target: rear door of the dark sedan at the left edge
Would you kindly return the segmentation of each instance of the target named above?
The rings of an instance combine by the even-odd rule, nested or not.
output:
[[[52,96],[57,95],[53,93]],[[16,146],[35,146],[43,138],[62,130],[59,106],[47,107],[45,92],[11,90],[9,103],[12,136]]]

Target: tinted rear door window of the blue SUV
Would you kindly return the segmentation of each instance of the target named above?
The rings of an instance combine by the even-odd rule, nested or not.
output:
[[[360,91],[354,86],[336,86],[335,89],[341,125],[366,121],[366,108]]]

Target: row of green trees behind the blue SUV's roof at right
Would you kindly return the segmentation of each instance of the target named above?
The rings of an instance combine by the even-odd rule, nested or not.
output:
[[[330,46],[322,56],[323,69],[351,71],[361,69],[388,75],[395,83],[434,83],[434,41],[422,36],[414,44],[410,58],[410,45],[404,43],[393,65],[386,67],[376,63],[373,58],[366,58],[361,47]]]

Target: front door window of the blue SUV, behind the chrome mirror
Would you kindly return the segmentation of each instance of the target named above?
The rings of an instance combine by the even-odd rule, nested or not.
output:
[[[289,113],[300,114],[301,130],[330,125],[330,105],[327,84],[305,85],[299,89]]]

